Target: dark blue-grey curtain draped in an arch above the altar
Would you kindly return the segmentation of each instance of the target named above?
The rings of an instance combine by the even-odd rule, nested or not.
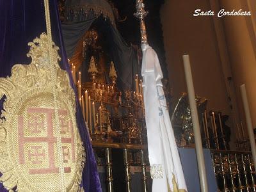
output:
[[[79,18],[79,16],[77,16]],[[77,20],[76,17],[76,20]],[[138,64],[137,50],[131,45],[127,45],[119,31],[111,24],[111,22],[102,17],[89,12],[87,17],[79,22],[68,21],[61,25],[63,31],[63,39],[68,58],[71,58],[76,49],[76,44],[90,27],[97,26],[97,29],[104,33],[108,42],[108,54],[115,63],[118,75],[117,85],[120,89],[134,88],[135,75],[140,75],[140,65]],[[97,23],[97,24],[95,24]],[[83,63],[87,65],[88,63]],[[83,66],[88,70],[88,66]]]

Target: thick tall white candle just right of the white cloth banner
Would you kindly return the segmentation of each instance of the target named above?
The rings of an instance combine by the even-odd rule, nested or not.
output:
[[[189,106],[191,109],[191,117],[193,123],[193,131],[195,136],[195,148],[196,148],[196,159],[198,163],[198,173],[200,179],[200,187],[201,191],[208,191],[207,185],[207,177],[205,172],[205,163],[204,163],[204,154],[203,154],[203,146],[202,146],[202,138],[200,133],[200,125],[198,120],[198,112],[196,108],[196,99],[195,99],[195,90],[193,85],[193,78],[191,73],[191,67],[189,62],[189,56],[183,56],[186,83],[188,87],[188,98],[189,98]]]

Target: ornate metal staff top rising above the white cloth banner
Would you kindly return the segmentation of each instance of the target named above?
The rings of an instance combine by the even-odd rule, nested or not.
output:
[[[140,19],[140,33],[141,33],[141,44],[148,44],[147,40],[147,31],[144,22],[144,17],[147,16],[148,12],[144,9],[145,5],[143,0],[136,0],[136,10],[137,12],[134,13],[134,16]]]

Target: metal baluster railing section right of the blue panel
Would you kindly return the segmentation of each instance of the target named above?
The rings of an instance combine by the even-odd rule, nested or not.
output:
[[[251,152],[211,150],[218,191],[256,191]]]

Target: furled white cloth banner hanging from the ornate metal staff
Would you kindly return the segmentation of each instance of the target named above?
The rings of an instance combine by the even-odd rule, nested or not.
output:
[[[142,45],[141,48],[143,51],[141,75],[143,76],[148,157],[153,179],[152,191],[177,191],[173,186],[173,179],[178,189],[188,191],[166,106],[160,63],[152,47]]]

